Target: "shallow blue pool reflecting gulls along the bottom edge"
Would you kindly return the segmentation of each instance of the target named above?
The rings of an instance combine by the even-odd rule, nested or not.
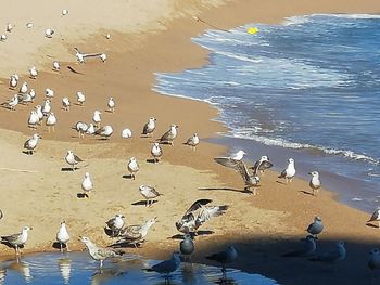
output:
[[[104,268],[92,260],[87,252],[36,254],[21,260],[0,261],[0,284],[164,284],[165,280],[157,273],[141,269],[157,263],[156,260],[139,256],[127,256],[118,260],[107,260]],[[207,285],[220,284],[220,269],[202,264],[182,263],[170,276],[170,284]],[[228,284],[277,284],[274,280],[259,274],[249,274],[228,269]]]

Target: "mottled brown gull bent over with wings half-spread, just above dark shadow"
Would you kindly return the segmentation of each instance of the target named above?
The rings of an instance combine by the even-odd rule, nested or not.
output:
[[[181,233],[194,232],[197,235],[198,229],[213,217],[218,217],[226,212],[227,205],[210,206],[212,199],[198,199],[185,212],[182,218],[176,222],[176,228]]]

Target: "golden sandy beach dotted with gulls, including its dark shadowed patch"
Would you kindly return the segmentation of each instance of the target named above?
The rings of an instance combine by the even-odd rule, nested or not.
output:
[[[72,250],[81,250],[77,241],[87,235],[101,245],[111,244],[104,233],[105,221],[115,213],[126,217],[127,224],[141,223],[157,217],[141,248],[125,248],[127,252],[164,259],[178,248],[175,222],[199,198],[211,198],[214,205],[229,205],[223,217],[207,222],[201,230],[212,231],[195,237],[195,262],[208,262],[204,257],[233,244],[240,252],[233,268],[255,272],[280,284],[370,284],[368,252],[379,246],[379,230],[367,226],[368,213],[337,202],[326,189],[318,197],[308,195],[308,181],[295,179],[291,184],[279,182],[278,173],[262,177],[258,195],[243,193],[238,173],[216,165],[213,157],[226,155],[223,145],[207,142],[226,127],[215,121],[218,111],[206,103],[159,95],[152,91],[154,73],[194,68],[207,63],[207,51],[191,42],[191,37],[210,28],[211,23],[228,29],[250,22],[280,23],[287,16],[312,13],[378,13],[375,0],[353,1],[142,1],[116,2],[104,9],[80,13],[89,1],[7,1],[0,25],[15,24],[5,42],[0,42],[0,100],[9,100],[15,91],[8,88],[9,76],[17,73],[37,93],[29,106],[17,105],[11,112],[0,108],[0,221],[1,235],[16,233],[31,225],[24,252],[56,250],[52,247],[60,221],[65,219],[72,235]],[[91,1],[94,7],[102,1]],[[46,9],[40,9],[46,5]],[[62,9],[69,14],[61,16]],[[33,18],[29,11],[34,11]],[[85,14],[85,15],[84,15]],[[5,16],[7,15],[7,16]],[[194,16],[205,23],[195,21]],[[25,24],[34,22],[27,29]],[[43,37],[52,27],[52,39]],[[2,31],[0,33],[2,34]],[[111,38],[105,39],[104,35]],[[84,52],[105,52],[107,61],[88,60],[78,64],[73,48]],[[52,72],[54,60],[62,64]],[[39,69],[37,79],[27,70]],[[67,67],[76,70],[73,73]],[[23,144],[36,131],[28,129],[28,114],[45,98],[45,89],[55,91],[52,106],[58,117],[55,132],[39,126],[41,134],[34,155],[25,155]],[[62,109],[61,100],[75,102],[83,91],[85,106],[73,104]],[[115,113],[106,112],[110,96],[116,101]],[[111,125],[114,134],[109,141],[94,137],[79,139],[72,127],[79,120],[90,122],[92,113],[103,113],[102,124]],[[153,138],[140,138],[149,117],[157,118]],[[170,126],[179,126],[175,145],[164,145],[162,161],[149,163],[152,141]],[[124,128],[130,128],[131,139],[122,139]],[[182,145],[193,132],[201,143],[193,152]],[[65,153],[72,150],[85,161],[76,171],[66,171]],[[127,179],[126,164],[130,157],[140,163],[136,180]],[[251,161],[252,163],[252,161]],[[90,198],[78,198],[85,172],[94,183]],[[152,207],[144,207],[138,187],[154,185],[164,196]],[[350,185],[347,185],[350,186]],[[134,205],[135,204],[135,205]],[[137,205],[136,205],[137,204]],[[318,242],[321,250],[337,241],[347,243],[343,262],[329,265],[304,259],[284,259],[280,255],[294,247],[305,236],[305,229],[318,215],[325,232]],[[0,256],[13,256],[12,248],[2,245]]]

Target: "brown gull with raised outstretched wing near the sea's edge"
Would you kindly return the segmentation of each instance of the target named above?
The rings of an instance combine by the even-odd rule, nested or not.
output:
[[[214,160],[219,165],[238,171],[244,181],[244,191],[256,195],[256,186],[259,184],[259,177],[251,174],[242,160],[236,160],[231,157],[215,157]],[[251,187],[253,187],[253,192],[250,191]]]

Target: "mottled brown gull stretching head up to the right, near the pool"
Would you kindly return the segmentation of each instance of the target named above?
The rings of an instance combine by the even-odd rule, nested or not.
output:
[[[131,244],[137,248],[137,246],[144,242],[149,230],[156,223],[156,220],[157,218],[155,217],[142,225],[127,225],[121,231],[121,239],[117,241],[116,244]]]

